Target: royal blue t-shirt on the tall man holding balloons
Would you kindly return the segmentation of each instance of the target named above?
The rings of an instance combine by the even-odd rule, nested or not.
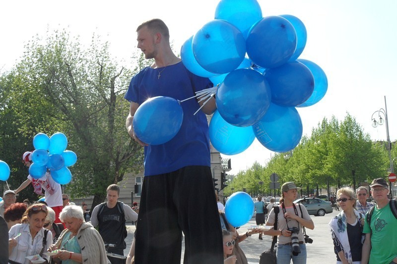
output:
[[[208,78],[191,73],[179,62],[165,68],[142,69],[132,77],[124,98],[139,105],[156,96],[182,101],[211,87],[213,84]],[[164,144],[144,147],[145,176],[168,173],[190,165],[210,166],[206,116],[202,111],[194,115],[200,107],[197,99],[187,100],[181,106],[183,122],[177,135]]]

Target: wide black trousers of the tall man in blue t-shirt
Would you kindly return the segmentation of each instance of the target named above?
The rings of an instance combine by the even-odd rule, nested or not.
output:
[[[211,170],[187,166],[145,176],[136,225],[136,264],[223,264],[223,239]]]

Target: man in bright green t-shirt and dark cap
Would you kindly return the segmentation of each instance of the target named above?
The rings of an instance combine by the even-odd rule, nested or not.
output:
[[[397,219],[389,206],[388,183],[383,178],[374,179],[370,185],[376,201],[371,222],[365,219],[362,264],[397,263]]]

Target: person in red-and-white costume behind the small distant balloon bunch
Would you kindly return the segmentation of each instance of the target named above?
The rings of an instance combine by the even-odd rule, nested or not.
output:
[[[32,153],[27,151],[22,155],[22,161],[27,167],[30,167],[32,162]],[[26,181],[24,181],[18,189],[15,190],[15,194],[19,193],[23,189],[25,189],[30,183],[34,188],[34,192],[38,195],[45,196],[45,202],[49,207],[51,207],[55,211],[55,222],[61,223],[59,219],[59,214],[63,209],[62,203],[62,189],[61,185],[53,180],[51,177],[51,173],[47,170],[46,174],[40,179],[35,179],[32,176],[28,175]]]

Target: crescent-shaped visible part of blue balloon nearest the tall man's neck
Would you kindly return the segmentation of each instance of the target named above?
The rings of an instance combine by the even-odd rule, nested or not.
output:
[[[201,77],[212,77],[216,76],[216,73],[209,72],[204,70],[199,62],[197,62],[195,55],[193,55],[193,47],[192,47],[193,36],[190,37],[185,43],[182,45],[181,48],[181,58],[182,63],[185,67],[192,73],[196,74],[197,76]]]

